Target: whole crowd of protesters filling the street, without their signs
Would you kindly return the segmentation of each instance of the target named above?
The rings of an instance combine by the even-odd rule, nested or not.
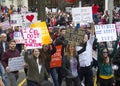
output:
[[[24,13],[26,10],[22,12]],[[120,9],[119,9],[120,10]],[[120,11],[113,10],[113,23],[120,20]],[[25,73],[27,86],[62,86],[62,81],[66,86],[94,86],[93,67],[97,69],[98,86],[120,86],[120,48],[119,36],[112,42],[112,51],[109,50],[107,42],[97,42],[95,38],[94,25],[108,24],[109,12],[97,4],[92,5],[93,20],[91,29],[85,29],[82,45],[69,43],[65,38],[67,29],[75,27],[71,13],[59,12],[46,14],[46,23],[50,36],[53,40],[51,44],[42,45],[42,49],[27,50],[23,44],[16,44],[13,40],[13,33],[19,27],[4,30],[0,25],[0,86],[18,86],[19,71],[10,72],[8,67],[9,58],[24,56]],[[9,19],[10,14],[21,12],[12,7],[1,7],[0,21]],[[81,26],[85,28],[86,26]],[[61,67],[50,68],[51,56],[56,52],[56,46],[62,45]],[[93,57],[95,51],[96,59]],[[114,66],[113,66],[114,65]],[[3,81],[3,82],[2,82]],[[2,83],[1,83],[2,82]]]

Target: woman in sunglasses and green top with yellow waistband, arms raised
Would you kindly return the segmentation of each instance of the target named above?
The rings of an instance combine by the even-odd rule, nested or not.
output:
[[[100,86],[113,86],[113,70],[112,70],[112,58],[117,50],[117,44],[119,39],[117,39],[115,45],[113,46],[113,51],[110,53],[107,47],[100,49],[99,43],[98,47],[98,81]]]

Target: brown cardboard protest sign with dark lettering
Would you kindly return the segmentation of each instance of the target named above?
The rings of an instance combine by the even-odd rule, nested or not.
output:
[[[81,29],[67,29],[65,34],[65,39],[68,40],[69,43],[75,43],[76,45],[80,45],[83,43],[85,31]]]

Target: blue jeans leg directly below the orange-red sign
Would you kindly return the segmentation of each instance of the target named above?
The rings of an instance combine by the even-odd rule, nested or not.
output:
[[[51,73],[51,76],[52,76],[52,79],[53,79],[53,82],[54,82],[54,86],[59,86],[58,74],[57,74],[56,68],[52,68],[50,70],[50,73]]]

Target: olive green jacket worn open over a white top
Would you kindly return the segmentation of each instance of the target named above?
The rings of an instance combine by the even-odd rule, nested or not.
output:
[[[40,85],[40,83],[43,80],[49,78],[44,65],[42,65],[41,73],[39,74],[39,69],[37,66],[37,61],[35,56],[28,55],[28,53],[25,52],[24,59],[25,59],[25,62],[28,64],[28,73],[27,73],[28,80],[37,82]]]

